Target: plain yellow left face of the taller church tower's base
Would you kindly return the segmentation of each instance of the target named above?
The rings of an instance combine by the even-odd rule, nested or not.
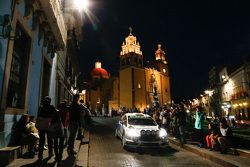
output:
[[[120,107],[132,108],[132,69],[126,68],[120,71]]]

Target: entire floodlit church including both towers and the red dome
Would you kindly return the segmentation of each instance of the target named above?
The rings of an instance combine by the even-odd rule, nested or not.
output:
[[[141,46],[131,28],[121,48],[118,76],[110,76],[101,68],[101,62],[92,70],[92,83],[97,88],[89,92],[91,110],[105,109],[110,113],[125,107],[142,112],[146,107],[171,103],[168,63],[161,45],[158,44],[155,60],[147,66],[143,64]]]

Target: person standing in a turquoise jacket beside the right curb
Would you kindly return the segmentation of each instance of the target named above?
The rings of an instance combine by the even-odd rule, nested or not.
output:
[[[203,125],[205,121],[205,114],[203,108],[201,106],[196,107],[196,114],[195,114],[195,129],[199,134],[199,147],[204,147],[204,130]]]

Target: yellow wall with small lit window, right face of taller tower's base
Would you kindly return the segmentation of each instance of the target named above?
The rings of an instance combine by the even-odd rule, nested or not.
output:
[[[134,104],[141,112],[146,108],[145,70],[134,68]]]

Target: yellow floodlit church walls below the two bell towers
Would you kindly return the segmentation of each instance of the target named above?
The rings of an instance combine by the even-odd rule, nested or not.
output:
[[[154,74],[156,79],[160,105],[171,102],[169,77],[150,68],[140,69],[133,67],[133,71],[134,75],[132,75],[132,67],[120,71],[120,107],[132,108],[134,104],[136,108],[143,111],[147,105],[152,105],[153,88],[150,82],[152,74]],[[132,79],[132,77],[134,78]]]

